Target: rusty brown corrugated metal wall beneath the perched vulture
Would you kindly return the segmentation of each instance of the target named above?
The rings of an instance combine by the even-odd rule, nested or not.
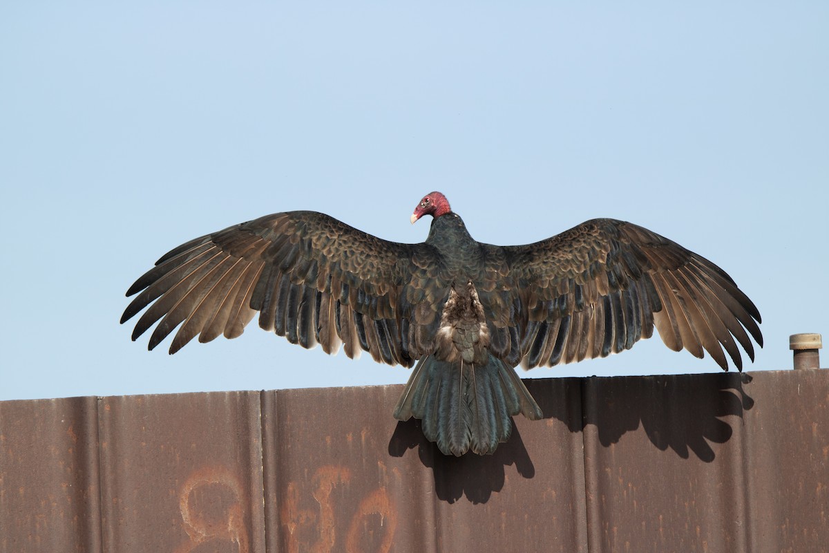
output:
[[[822,551],[829,371],[526,381],[489,457],[401,386],[0,402],[0,551]]]

